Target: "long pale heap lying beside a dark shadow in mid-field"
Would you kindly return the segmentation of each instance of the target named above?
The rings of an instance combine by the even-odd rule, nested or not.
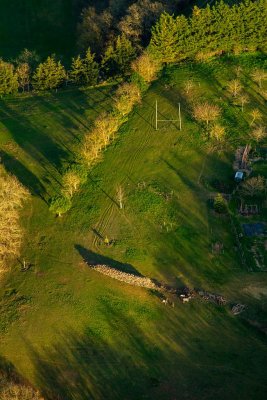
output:
[[[107,265],[90,265],[90,267],[95,271],[100,272],[100,274],[107,275],[113,279],[117,279],[117,281],[128,283],[129,285],[141,286],[147,289],[158,289],[158,286],[156,286],[150,278],[144,276],[122,272]]]

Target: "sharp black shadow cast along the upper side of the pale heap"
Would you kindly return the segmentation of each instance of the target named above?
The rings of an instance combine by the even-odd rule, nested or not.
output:
[[[127,272],[129,274],[134,274],[136,276],[142,276],[137,269],[135,269],[131,264],[124,264],[119,261],[113,260],[112,258],[102,256],[101,254],[94,253],[91,250],[86,249],[85,247],[76,244],[75,249],[81,255],[81,257],[89,264],[89,265],[107,265],[109,267],[115,268],[122,272]]]

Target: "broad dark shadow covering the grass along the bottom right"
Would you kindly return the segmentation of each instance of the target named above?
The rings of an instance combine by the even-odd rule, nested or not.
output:
[[[27,344],[47,400],[265,398],[263,338],[238,320],[214,306],[167,318],[163,308],[142,329],[142,310],[149,318],[155,304],[133,316],[132,301],[104,291],[98,299],[94,322],[81,333],[58,332],[43,349]]]

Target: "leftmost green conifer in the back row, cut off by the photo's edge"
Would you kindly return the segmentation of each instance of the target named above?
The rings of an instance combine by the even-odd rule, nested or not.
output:
[[[13,64],[0,58],[0,96],[18,91],[18,75]]]

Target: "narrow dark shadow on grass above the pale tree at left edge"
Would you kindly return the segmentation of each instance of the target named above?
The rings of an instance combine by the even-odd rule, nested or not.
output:
[[[44,199],[46,190],[39,179],[28,168],[26,168],[19,160],[3,150],[0,150],[0,159],[6,170],[15,175],[18,180],[29,189],[29,191],[41,199]]]

